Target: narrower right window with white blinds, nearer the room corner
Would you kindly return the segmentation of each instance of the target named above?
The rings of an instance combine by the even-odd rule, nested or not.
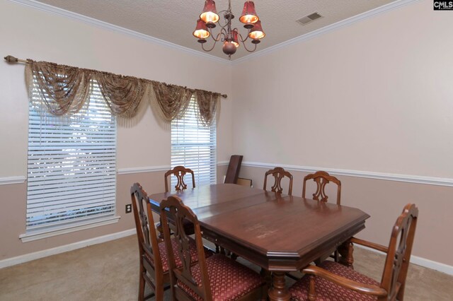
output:
[[[194,97],[182,119],[171,122],[171,166],[183,165],[195,172],[196,186],[215,184],[216,164],[216,124],[202,126],[197,118],[198,105]],[[186,177],[186,184],[192,179]],[[176,185],[176,177],[171,177]]]

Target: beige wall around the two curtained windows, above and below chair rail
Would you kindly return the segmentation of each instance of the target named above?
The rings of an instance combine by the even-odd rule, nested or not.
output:
[[[222,99],[217,126],[217,159],[229,160],[229,64],[6,0],[0,0],[0,37],[2,57],[11,54],[229,94],[228,99]],[[206,76],[206,69],[222,72]],[[23,70],[23,64],[0,61],[0,178],[27,173],[28,98]],[[149,105],[142,107],[137,119],[119,124],[117,168],[170,165],[169,127],[158,122]],[[159,192],[164,190],[163,177],[161,172],[118,175],[119,223],[26,243],[18,238],[25,232],[26,184],[0,185],[0,260],[133,228],[132,215],[124,214],[125,203],[130,202],[130,185],[138,181],[149,193]]]

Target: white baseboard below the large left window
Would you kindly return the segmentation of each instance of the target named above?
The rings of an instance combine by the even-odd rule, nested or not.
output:
[[[122,232],[116,232],[113,234],[94,237],[89,240],[82,240],[81,242],[65,244],[64,246],[59,246],[59,247],[55,247],[52,249],[45,249],[45,250],[42,250],[39,252],[33,252],[30,254],[25,254],[25,255],[21,255],[21,256],[3,259],[3,260],[0,260],[0,268],[6,268],[7,266],[14,266],[16,264],[23,264],[24,262],[27,262],[27,261],[32,261],[35,259],[40,259],[43,257],[55,255],[55,254],[73,251],[75,249],[81,249],[84,247],[92,246],[93,244],[102,244],[103,242],[110,242],[110,240],[117,240],[122,237],[134,235],[135,232],[136,232],[135,229],[125,230]]]

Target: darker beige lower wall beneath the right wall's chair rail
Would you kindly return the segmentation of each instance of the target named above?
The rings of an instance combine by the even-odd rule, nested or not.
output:
[[[253,187],[262,188],[266,168],[241,167],[241,177],[253,180]],[[293,175],[294,196],[302,196],[302,183],[306,172],[289,170]],[[415,203],[420,211],[417,224],[413,255],[453,266],[450,250],[452,249],[451,230],[453,220],[452,187],[413,184],[362,177],[337,176],[341,181],[341,204],[360,208],[371,216],[356,237],[379,244],[388,245],[391,227],[406,203]],[[268,189],[273,185],[268,179]],[[282,180],[282,187],[287,191],[287,178]],[[306,197],[315,192],[316,184],[308,182]],[[336,203],[336,185],[326,187],[329,202]],[[297,223],[297,221],[294,221]],[[313,225],[316,227],[316,225]],[[301,234],[303,235],[303,234]]]

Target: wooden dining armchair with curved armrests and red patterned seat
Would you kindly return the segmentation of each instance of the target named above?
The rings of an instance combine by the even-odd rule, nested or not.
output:
[[[418,208],[408,203],[391,230],[389,247],[352,237],[349,242],[386,253],[381,283],[334,261],[303,269],[304,277],[289,288],[292,300],[399,300],[411,259]]]

